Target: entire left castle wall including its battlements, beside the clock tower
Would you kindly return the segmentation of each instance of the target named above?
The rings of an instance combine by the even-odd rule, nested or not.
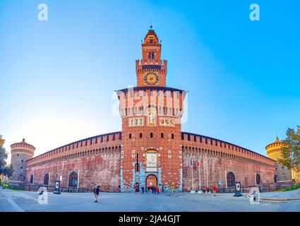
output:
[[[76,172],[79,188],[100,184],[102,191],[119,191],[121,132],[86,138],[50,150],[26,162],[26,180],[44,184],[49,174],[49,185],[54,186],[62,176],[61,186],[68,187],[69,175]]]

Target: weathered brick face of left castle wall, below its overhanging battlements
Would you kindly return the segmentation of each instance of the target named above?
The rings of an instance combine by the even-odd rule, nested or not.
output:
[[[44,175],[49,174],[49,185],[54,186],[56,179],[62,176],[60,186],[68,187],[69,175],[78,174],[79,188],[93,188],[100,184],[101,191],[119,191],[120,153],[114,150],[104,153],[89,153],[84,157],[71,157],[62,161],[28,167],[26,182],[33,175],[34,184],[44,184]]]

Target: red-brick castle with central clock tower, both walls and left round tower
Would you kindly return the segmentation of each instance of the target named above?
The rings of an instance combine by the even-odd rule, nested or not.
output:
[[[152,27],[141,47],[136,87],[116,91],[121,131],[68,143],[36,157],[35,148],[24,140],[13,144],[12,164],[18,162],[13,179],[52,186],[60,180],[61,186],[76,188],[100,184],[102,191],[121,192],[151,185],[191,191],[212,185],[228,188],[234,182],[274,184],[275,160],[181,131],[186,91],[166,86],[167,60],[161,59],[162,46]]]

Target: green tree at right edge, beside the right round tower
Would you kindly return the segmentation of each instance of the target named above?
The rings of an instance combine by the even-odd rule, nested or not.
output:
[[[282,165],[288,167],[288,169],[294,169],[294,171],[300,171],[300,126],[297,126],[297,131],[294,129],[287,129],[287,138],[283,141],[285,147],[282,148],[282,160],[279,162]]]

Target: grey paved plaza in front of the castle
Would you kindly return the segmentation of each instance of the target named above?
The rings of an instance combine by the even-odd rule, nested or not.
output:
[[[172,212],[172,211],[234,211],[234,212],[286,212],[300,211],[300,200],[270,201],[260,200],[251,204],[246,194],[234,197],[234,194],[190,194],[190,193],[100,193],[99,202],[94,202],[92,193],[47,193],[47,204],[40,204],[41,196],[34,191],[0,190],[0,212],[11,211],[120,211],[120,212]],[[39,199],[40,196],[40,199]],[[300,189],[285,192],[268,192],[260,198],[296,199],[300,198]]]

